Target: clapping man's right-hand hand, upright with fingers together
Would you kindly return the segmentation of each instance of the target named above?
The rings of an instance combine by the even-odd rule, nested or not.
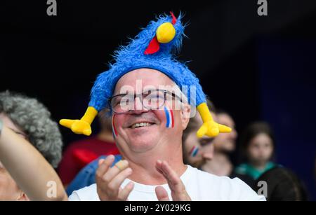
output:
[[[173,201],[191,201],[180,177],[166,161],[157,160],[156,169],[166,178]],[[162,186],[157,186],[155,191],[159,201],[169,201],[168,193]]]

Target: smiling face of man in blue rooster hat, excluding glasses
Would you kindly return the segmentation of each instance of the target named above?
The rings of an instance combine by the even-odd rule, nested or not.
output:
[[[141,89],[139,86],[141,81]],[[153,69],[136,69],[122,76],[117,82],[114,95],[122,93],[121,89],[130,86],[135,94],[146,91],[148,88],[161,89],[161,86],[172,86],[173,81],[160,71]],[[138,92],[137,92],[138,91]],[[129,92],[131,93],[131,92]],[[114,113],[113,124],[117,130],[118,147],[123,153],[144,153],[157,149],[157,153],[164,152],[163,148],[178,147],[176,142],[182,137],[183,129],[188,118],[183,118],[182,110],[172,110],[170,102],[166,102],[173,112],[173,127],[166,127],[166,112],[164,108],[149,110],[142,107],[142,102],[136,97],[134,110],[126,113]],[[190,109],[188,110],[190,114]],[[169,117],[171,120],[171,118]],[[141,125],[140,127],[137,126]]]

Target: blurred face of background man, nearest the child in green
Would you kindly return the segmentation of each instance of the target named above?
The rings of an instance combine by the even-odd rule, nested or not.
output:
[[[231,152],[235,150],[235,143],[237,139],[237,132],[235,130],[235,122],[226,113],[217,114],[217,122],[227,125],[232,128],[230,133],[220,133],[214,139],[214,146],[216,151]]]

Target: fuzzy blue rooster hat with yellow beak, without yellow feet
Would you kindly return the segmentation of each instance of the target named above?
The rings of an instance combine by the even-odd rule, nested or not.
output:
[[[132,39],[129,45],[120,46],[114,53],[114,63],[110,69],[101,73],[91,90],[89,106],[97,111],[109,108],[108,99],[112,97],[115,85],[121,76],[134,69],[149,68],[161,71],[169,76],[180,89],[183,85],[195,86],[195,105],[206,102],[206,97],[199,84],[199,79],[176,60],[173,55],[180,50],[185,26],[181,23],[182,16],[160,15],[157,21],[150,22],[147,27]],[[190,102],[190,90],[187,92]]]

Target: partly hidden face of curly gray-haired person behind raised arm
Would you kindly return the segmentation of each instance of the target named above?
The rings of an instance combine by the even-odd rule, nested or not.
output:
[[[0,113],[0,119],[3,120],[4,125],[10,128],[22,137],[26,135],[15,126],[13,122],[3,113]],[[1,158],[0,158],[1,160]],[[2,163],[0,162],[0,200],[27,200],[25,193],[18,188],[18,185],[12,179],[11,175],[6,171]]]

